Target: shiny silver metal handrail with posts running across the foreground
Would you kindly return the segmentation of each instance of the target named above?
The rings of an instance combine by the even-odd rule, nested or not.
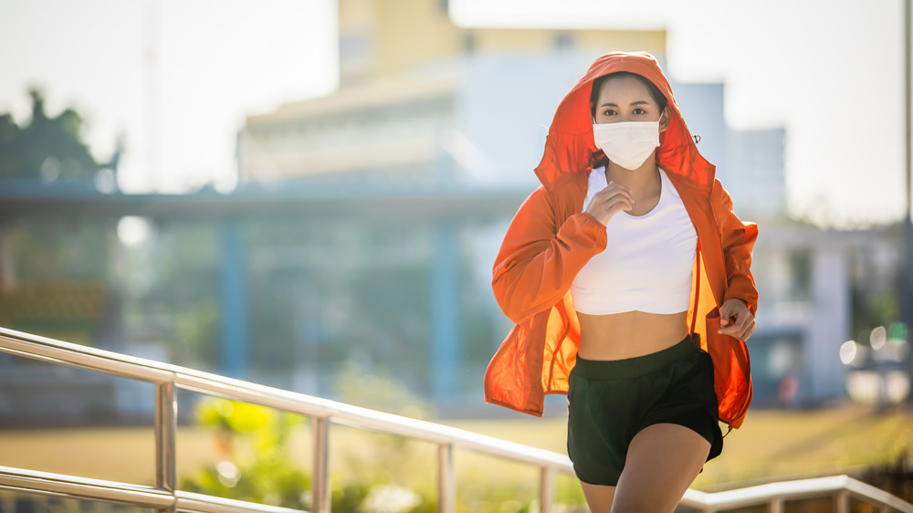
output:
[[[0,328],[0,351],[153,383],[155,385],[156,462],[154,487],[0,466],[0,488],[114,502],[153,508],[158,511],[204,513],[242,511],[290,513],[298,511],[177,490],[175,476],[176,389],[259,404],[309,416],[313,421],[311,508],[312,511],[318,513],[329,512],[331,505],[328,442],[332,424],[346,424],[436,444],[438,446],[437,504],[438,511],[442,513],[455,513],[456,511],[454,449],[475,451],[537,466],[540,470],[541,513],[549,513],[552,509],[555,473],[573,474],[573,467],[567,456],[527,445],[19,331]],[[850,497],[875,503],[882,511],[893,509],[902,513],[913,513],[913,505],[908,502],[848,476],[772,483],[718,493],[703,493],[689,489],[682,498],[681,505],[705,513],[767,505],[771,513],[781,513],[784,510],[784,502],[803,497],[835,497],[835,510],[838,513],[849,512]]]

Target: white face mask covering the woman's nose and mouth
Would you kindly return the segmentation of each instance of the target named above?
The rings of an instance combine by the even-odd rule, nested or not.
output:
[[[659,146],[659,120],[593,123],[593,142],[610,161],[637,169]]]

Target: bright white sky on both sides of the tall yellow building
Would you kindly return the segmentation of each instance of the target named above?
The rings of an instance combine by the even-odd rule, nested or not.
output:
[[[666,72],[723,82],[731,128],[786,129],[793,215],[904,215],[901,0],[450,0],[450,14],[666,29]],[[337,87],[336,38],[335,0],[0,0],[0,112],[26,121],[40,87],[52,114],[84,115],[98,160],[123,138],[122,190],[227,191],[246,115]]]

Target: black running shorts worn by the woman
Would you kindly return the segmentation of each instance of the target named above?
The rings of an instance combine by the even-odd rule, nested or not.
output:
[[[722,451],[713,362],[690,337],[626,360],[577,357],[569,386],[568,455],[584,483],[614,487],[631,440],[652,424],[700,434],[710,443],[708,461]]]

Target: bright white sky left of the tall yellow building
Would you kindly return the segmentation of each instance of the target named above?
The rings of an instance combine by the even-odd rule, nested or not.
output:
[[[328,0],[0,0],[0,112],[27,120],[35,84],[51,114],[83,114],[97,159],[125,135],[123,190],[213,182],[235,169],[245,115],[335,88],[335,9]]]

